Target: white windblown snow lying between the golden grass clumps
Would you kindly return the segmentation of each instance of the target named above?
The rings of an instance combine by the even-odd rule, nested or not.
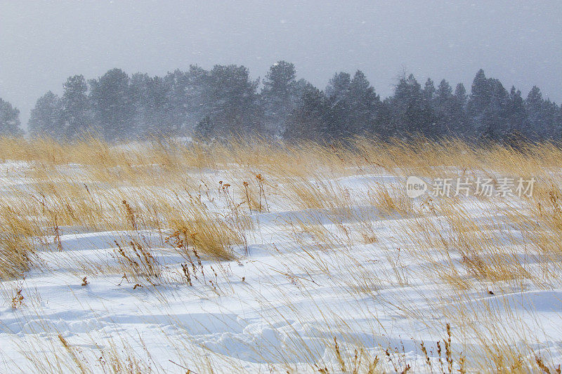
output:
[[[1,194],[25,188],[29,183],[25,168],[25,163],[0,164]],[[374,183],[400,185],[403,178],[381,173],[333,182],[353,196]],[[490,225],[490,232],[493,222],[504,219],[500,211],[490,215],[485,202],[476,199],[466,199],[462,206],[481,225]],[[427,269],[431,261],[460,267],[461,255],[452,251],[450,258],[428,259],[414,253],[404,227],[417,220],[416,215],[384,213],[368,204],[351,209],[369,222],[376,241],[346,237],[342,227],[356,223],[348,219],[347,211],[292,210],[273,202],[270,212],[251,213],[254,231],[246,233],[247,251],[234,248],[234,260],[203,258],[204,276],[200,269],[197,279],[192,273],[192,286],[182,274],[186,258],[164,243],[162,232],[61,227],[63,251],[47,245],[39,251],[39,265],[25,279],[1,281],[0,370],[34,372],[26,357],[30,354],[44,355],[45,361],[70,360],[60,348],[60,335],[79,360],[93,362],[100,373],[104,366],[101,361],[96,366],[96,359],[110,347],[117,347],[123,356],[133,352],[159,372],[185,373],[190,368],[199,373],[209,362],[223,373],[284,373],[288,367],[296,372],[318,372],[323,367],[338,372],[334,338],[350,366],[354,349],[362,347],[381,358],[380,368],[393,371],[384,352],[390,348],[398,363],[403,360],[423,372],[429,368],[419,343],[425,342],[431,361],[438,365],[435,342],[446,338],[447,322],[452,323],[457,354],[466,347],[478,352],[481,344],[470,334],[460,342],[455,323],[436,314],[438,308],[470,309],[467,324],[478,323],[471,315],[487,314],[514,347],[525,342],[535,352],[549,352],[554,362],[561,359],[561,288],[482,281],[466,291],[469,297],[455,298]],[[438,216],[429,219],[440,222]],[[322,224],[334,235],[335,245],[317,243],[295,223],[303,221]],[[118,265],[116,239],[135,239],[152,248],[163,268],[161,279],[134,280],[104,271]],[[53,238],[47,241],[52,243]],[[524,248],[518,251],[517,244],[514,253],[528,255]],[[530,269],[535,266],[529,263]],[[81,285],[84,276],[86,286]],[[135,288],[137,283],[141,286]],[[25,299],[14,309],[11,298],[18,289]],[[318,368],[311,363],[318,363]],[[77,370],[72,362],[67,367]]]

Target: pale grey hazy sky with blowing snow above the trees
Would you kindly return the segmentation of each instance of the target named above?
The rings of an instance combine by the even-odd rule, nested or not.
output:
[[[562,1],[0,0],[0,98],[24,124],[73,74],[237,64],[255,78],[281,59],[319,88],[361,69],[387,96],[405,69],[469,90],[483,68],[561,102]]]

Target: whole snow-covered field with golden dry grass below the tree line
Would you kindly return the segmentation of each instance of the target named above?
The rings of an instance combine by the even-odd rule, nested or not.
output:
[[[562,152],[357,145],[3,140],[0,370],[556,372]]]

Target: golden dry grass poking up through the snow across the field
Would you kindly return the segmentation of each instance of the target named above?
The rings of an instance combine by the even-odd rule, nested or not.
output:
[[[66,251],[65,233],[115,232],[116,263],[96,267],[95,275],[125,274],[134,283],[176,285],[159,261],[172,251],[185,261],[179,270],[183,285],[195,289],[198,283],[192,277],[203,273],[205,260],[240,260],[250,244],[260,240],[275,249],[275,243],[261,239],[266,226],[261,220],[279,215],[280,236],[291,250],[280,255],[286,267],[280,272],[303,298],[316,302],[313,295],[320,285],[315,276],[325,276],[329,286],[353,295],[358,308],[365,298],[383,302],[401,316],[425,323],[440,340],[416,342],[415,349],[425,359],[414,366],[404,347],[367,347],[337,311],[318,302],[315,312],[332,333],[319,338],[321,347],[309,347],[307,338],[294,332],[285,351],[258,352],[264,361],[275,357],[275,370],[559,372],[548,352],[530,343],[517,345],[535,335],[532,326],[523,326],[509,300],[501,310],[486,301],[488,295],[562,285],[562,149],[556,144],[514,149],[456,139],[354,138],[337,145],[288,145],[259,138],[221,143],[155,138],[110,145],[94,137],[73,143],[3,138],[0,160],[17,161],[3,164],[7,166],[0,175],[6,177],[6,185],[0,186],[4,281],[24,279],[30,269],[41,269],[38,253]],[[395,182],[379,178],[384,175]],[[412,200],[399,184],[408,175],[475,180],[486,176],[495,183],[499,177],[532,177],[537,184],[530,197]],[[373,179],[362,194],[346,185],[346,178],[367,176]],[[13,180],[21,183],[9,182]],[[289,212],[295,214],[283,215]],[[385,222],[390,221],[388,228]],[[385,233],[387,228],[390,233]],[[145,240],[147,233],[157,240]],[[373,258],[360,263],[365,253]],[[204,283],[223,295],[226,290],[217,289],[218,278],[227,278],[228,271],[219,270],[219,276],[218,266],[211,267],[214,276],[205,268],[211,286],[209,279]],[[77,271],[86,285],[86,276],[92,282],[91,269],[84,265]],[[429,279],[431,287],[414,281],[419,278]],[[287,284],[279,286],[282,295],[287,294],[284,287]],[[396,293],[390,297],[388,290]],[[430,306],[419,309],[419,302],[406,293],[412,290]],[[15,307],[23,309],[20,296],[21,289],[10,295]],[[283,319],[310,318],[290,302],[287,309]],[[370,310],[363,312],[372,321],[365,330],[384,333],[384,322]],[[341,321],[339,329],[328,319]],[[504,327],[520,322],[521,336],[504,332]],[[478,342],[478,348],[467,340]],[[174,364],[190,370],[182,356],[190,354],[191,347],[177,344]],[[101,358],[92,361],[58,335],[58,342],[48,348],[53,354],[48,360],[27,358],[43,372],[162,371],[150,365],[150,358],[116,347],[99,347]],[[207,351],[201,352],[204,357]],[[331,352],[332,361],[326,352]],[[295,354],[306,357],[303,366],[291,362]],[[211,372],[214,363],[209,360],[201,359],[192,370]]]

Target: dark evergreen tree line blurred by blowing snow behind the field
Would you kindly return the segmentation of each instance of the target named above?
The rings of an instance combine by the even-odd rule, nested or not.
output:
[[[30,135],[72,139],[87,131],[107,140],[148,135],[204,137],[261,135],[288,140],[335,140],[355,134],[457,136],[506,141],[560,140],[562,108],[533,87],[526,98],[511,87],[476,74],[470,93],[443,79],[424,86],[412,74],[398,79],[391,97],[381,100],[365,74],[334,74],[321,91],[296,79],[293,64],[270,67],[261,82],[247,68],[190,66],[163,77],[129,76],[111,69],[98,79],[67,79],[63,95],[51,91],[32,109]],[[18,135],[18,109],[0,99],[0,133]]]

